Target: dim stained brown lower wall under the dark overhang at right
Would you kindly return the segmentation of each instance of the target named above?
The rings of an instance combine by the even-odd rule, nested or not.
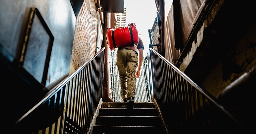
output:
[[[249,28],[247,33],[234,44],[225,57],[212,69],[202,87],[216,96],[231,82],[238,79],[256,65],[256,24]]]

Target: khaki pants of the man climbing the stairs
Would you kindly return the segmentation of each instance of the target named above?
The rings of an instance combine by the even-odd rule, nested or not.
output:
[[[122,99],[134,97],[136,88],[135,72],[138,67],[138,55],[130,49],[121,49],[117,53],[116,65],[120,77]]]

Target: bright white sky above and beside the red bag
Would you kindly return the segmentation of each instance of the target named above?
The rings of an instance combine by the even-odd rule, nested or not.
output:
[[[170,4],[165,2],[165,6],[167,6],[165,8],[169,12]],[[155,0],[124,0],[124,8],[126,8],[126,25],[129,23],[136,24],[139,36],[144,44],[143,55],[146,57],[150,44],[148,30],[152,29],[155,18],[157,17]],[[168,12],[165,12],[165,14],[168,14]]]

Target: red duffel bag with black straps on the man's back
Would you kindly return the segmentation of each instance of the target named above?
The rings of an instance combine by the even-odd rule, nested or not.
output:
[[[109,28],[106,33],[107,43],[111,50],[134,43],[138,43],[138,31],[136,25],[131,23],[130,26]]]

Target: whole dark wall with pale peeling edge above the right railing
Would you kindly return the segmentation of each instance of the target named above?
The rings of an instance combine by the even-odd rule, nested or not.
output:
[[[256,65],[256,21],[249,1],[217,0],[179,68],[213,96]]]

